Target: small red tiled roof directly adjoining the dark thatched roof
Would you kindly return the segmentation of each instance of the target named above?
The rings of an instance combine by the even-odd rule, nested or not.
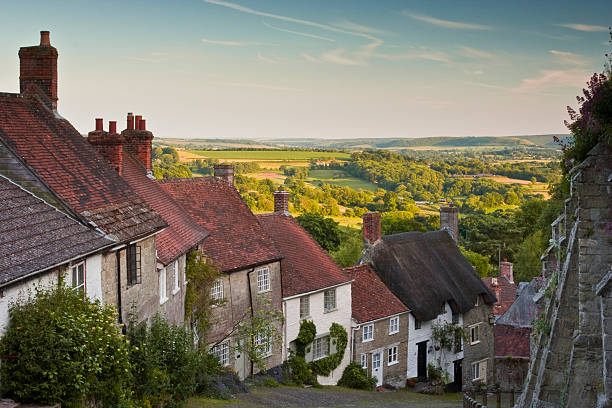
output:
[[[344,268],[344,272],[354,280],[351,297],[353,318],[358,323],[408,311],[402,301],[380,280],[369,263]]]

